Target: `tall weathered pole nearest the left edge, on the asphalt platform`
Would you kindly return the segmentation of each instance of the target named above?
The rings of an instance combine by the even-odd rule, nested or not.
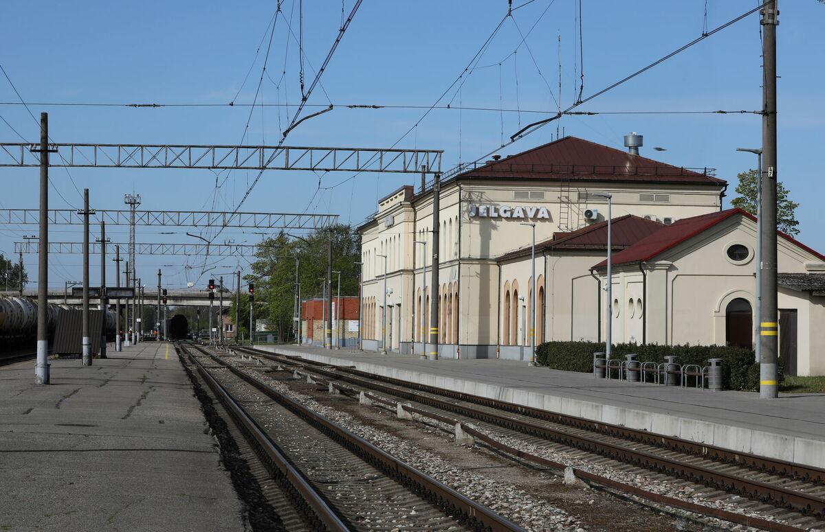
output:
[[[37,362],[35,384],[50,383],[49,372],[49,114],[40,113],[40,253],[37,272]]]

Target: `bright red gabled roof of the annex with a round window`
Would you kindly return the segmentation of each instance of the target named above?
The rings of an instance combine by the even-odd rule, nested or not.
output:
[[[754,222],[757,220],[756,217],[753,217],[752,214],[743,211],[741,208],[731,208],[726,211],[711,212],[700,216],[682,218],[670,226],[664,226],[662,229],[656,231],[647,238],[639,240],[638,243],[631,245],[626,250],[621,250],[619,253],[613,255],[613,264],[628,264],[653,259],[656,255],[671,249],[673,246],[680,244],[692,236],[696,236],[700,234],[700,232],[709,229],[709,227],[714,226],[723,220],[727,220],[729,217],[737,214],[748,217]],[[804,250],[816,255],[819,259],[825,260],[825,256],[810,249],[807,245],[794,240],[781,231],[776,231],[776,233],[794,245],[798,245]],[[599,264],[593,266],[593,268],[602,268],[606,265],[607,260],[605,259]]]

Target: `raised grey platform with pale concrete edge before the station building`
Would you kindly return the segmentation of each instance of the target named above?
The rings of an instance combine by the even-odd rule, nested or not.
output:
[[[780,394],[779,399],[760,399],[755,392],[596,379],[590,373],[530,367],[523,361],[421,360],[417,355],[309,345],[256,347],[825,468],[825,394]]]

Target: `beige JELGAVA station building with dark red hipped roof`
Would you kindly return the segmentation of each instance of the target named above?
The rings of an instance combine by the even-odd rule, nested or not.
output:
[[[438,250],[433,250],[432,188],[416,191],[404,186],[381,199],[378,211],[360,227],[364,348],[385,345],[393,352],[431,351],[424,349],[422,330],[435,325],[440,357],[529,360],[533,227],[525,224],[535,224],[536,343],[603,338],[604,279],[594,266],[606,256],[602,238],[606,230],[600,227],[606,225],[607,205],[592,194],[613,196],[615,226],[625,227],[625,234],[613,243],[614,254],[620,254],[681,220],[718,213],[725,188],[724,180],[716,179],[712,170],[688,170],[582,139],[562,138],[445,175],[439,196],[440,242]],[[752,242],[753,235],[741,231],[735,238]],[[437,324],[429,322],[436,292],[431,287],[434,252],[439,260]],[[706,259],[700,255],[685,259],[695,264],[695,278],[702,275]],[[807,259],[817,260],[815,255]],[[687,267],[688,262],[684,264]],[[709,328],[709,332],[684,340],[690,329],[683,330],[676,323],[681,319],[679,311],[670,318],[656,311],[645,313],[648,298],[653,305],[653,292],[658,301],[669,301],[672,308],[700,304],[690,293],[686,275],[676,275],[678,281],[674,281],[664,264],[645,267],[650,271],[642,273],[638,266],[635,273],[630,266],[616,271],[615,293],[620,292],[625,306],[634,301],[634,318],[624,312],[615,318],[615,327],[622,331],[620,336],[614,332],[616,342],[724,343],[714,333],[718,316],[716,321],[697,321],[696,326]],[[746,269],[724,264],[716,268],[714,263],[713,272],[707,275],[720,285],[744,287],[749,281],[753,292],[752,266],[750,278]],[[807,270],[789,266],[788,271]],[[674,294],[685,299],[667,299]],[[719,312],[724,314],[724,310]],[[636,317],[645,314],[648,320]]]

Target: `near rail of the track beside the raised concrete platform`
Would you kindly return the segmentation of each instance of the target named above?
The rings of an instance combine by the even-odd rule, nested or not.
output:
[[[244,350],[247,350],[247,348],[244,348]],[[269,358],[271,360],[278,361],[278,359],[269,352],[261,352],[256,350],[256,354]],[[302,362],[305,361],[302,360]],[[354,384],[364,385],[363,381],[358,380],[357,377],[342,376],[338,372],[343,371],[350,373],[357,370],[351,370],[351,368],[341,368],[336,366],[337,371],[333,372],[324,370],[323,368],[318,367],[319,365],[328,366],[321,365],[319,363],[309,364],[309,366],[314,366],[313,371],[317,371],[318,373],[321,373],[323,375],[336,378],[338,380],[353,382]],[[370,378],[376,378],[376,376],[372,376],[371,374],[366,375],[370,375]],[[413,383],[403,383],[403,381],[390,379],[388,377],[383,377],[380,380],[394,380],[397,381],[400,385],[406,387],[418,386],[414,385]],[[440,408],[448,412],[459,413],[460,415],[464,415],[469,418],[479,419],[479,421],[488,422],[499,427],[505,427],[510,430],[522,432],[529,436],[543,437],[550,441],[556,441],[562,443],[563,445],[573,446],[577,449],[587,450],[588,452],[592,452],[598,455],[604,455],[615,460],[623,461],[625,463],[638,465],[639,467],[643,467],[645,469],[653,469],[660,473],[665,473],[671,476],[675,476],[677,478],[684,478],[691,482],[704,484],[705,486],[714,486],[715,488],[723,489],[726,492],[733,492],[753,500],[770,500],[776,506],[784,506],[804,514],[811,514],[813,516],[817,516],[819,519],[823,519],[823,517],[825,517],[825,499],[823,499],[822,497],[810,495],[808,493],[797,492],[788,488],[780,488],[771,485],[770,483],[764,483],[758,480],[738,477],[733,474],[727,474],[722,471],[706,468],[700,465],[684,464],[678,460],[672,460],[664,456],[653,455],[641,450],[631,450],[627,447],[614,445],[606,441],[598,441],[589,436],[580,436],[571,434],[569,432],[559,431],[557,429],[550,427],[541,427],[540,425],[536,425],[535,423],[524,422],[513,418],[507,418],[504,415],[498,415],[495,413],[483,412],[475,408],[469,408],[466,406],[453,404],[449,401],[441,399],[417,395],[413,392],[408,392],[405,390],[396,390],[393,388],[389,388],[388,386],[375,383],[369,383],[367,387],[370,387],[373,390],[380,390],[386,394],[392,394],[398,397],[403,397],[404,399],[414,400],[418,403],[426,404],[434,408]],[[427,388],[432,387],[427,386]],[[443,389],[436,390],[448,391]],[[493,399],[489,400],[493,401],[493,403],[497,403],[497,401],[494,401]],[[521,407],[521,405],[508,405],[512,405],[518,408],[527,408]]]

